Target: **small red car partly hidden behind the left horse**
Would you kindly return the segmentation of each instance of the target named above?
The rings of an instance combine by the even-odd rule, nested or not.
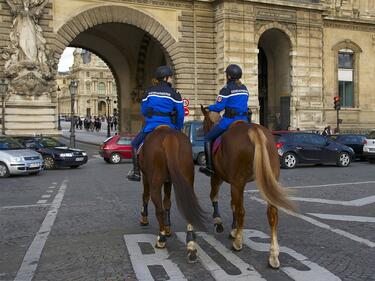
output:
[[[100,146],[99,154],[104,161],[111,164],[118,164],[121,159],[132,158],[132,136],[115,135],[106,139]]]

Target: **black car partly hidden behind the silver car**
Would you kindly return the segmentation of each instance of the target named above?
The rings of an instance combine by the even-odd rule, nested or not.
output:
[[[70,167],[72,169],[87,163],[87,153],[80,149],[68,148],[51,137],[16,137],[25,147],[42,154],[45,169]]]

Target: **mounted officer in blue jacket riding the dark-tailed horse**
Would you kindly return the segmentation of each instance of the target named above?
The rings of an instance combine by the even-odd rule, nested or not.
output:
[[[181,95],[172,88],[173,72],[168,66],[156,69],[156,83],[149,88],[142,99],[141,111],[146,124],[132,141],[133,170],[127,178],[140,181],[137,150],[148,133],[160,125],[181,130],[184,124],[184,106]]]

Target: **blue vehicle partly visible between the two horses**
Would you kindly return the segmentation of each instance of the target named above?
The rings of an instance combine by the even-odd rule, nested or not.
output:
[[[206,165],[204,156],[204,131],[202,121],[185,122],[183,132],[189,137],[193,147],[193,160],[198,165]]]

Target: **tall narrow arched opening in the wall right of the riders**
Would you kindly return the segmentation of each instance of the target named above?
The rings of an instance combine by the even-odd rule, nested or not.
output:
[[[274,25],[265,26],[257,35],[259,117],[261,124],[270,129],[286,130],[291,124],[290,54],[294,39],[290,31]]]

